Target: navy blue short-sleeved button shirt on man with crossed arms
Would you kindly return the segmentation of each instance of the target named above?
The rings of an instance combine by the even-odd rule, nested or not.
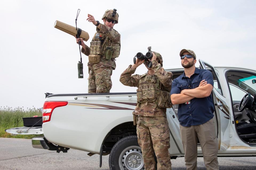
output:
[[[181,90],[193,89],[199,86],[199,83],[205,80],[207,84],[213,86],[213,75],[209,70],[195,68],[195,73],[190,78],[182,75],[173,80],[171,85],[171,95],[180,94]],[[203,98],[194,98],[190,102],[179,104],[178,117],[182,126],[190,127],[201,125],[213,118],[214,104],[212,96]]]

